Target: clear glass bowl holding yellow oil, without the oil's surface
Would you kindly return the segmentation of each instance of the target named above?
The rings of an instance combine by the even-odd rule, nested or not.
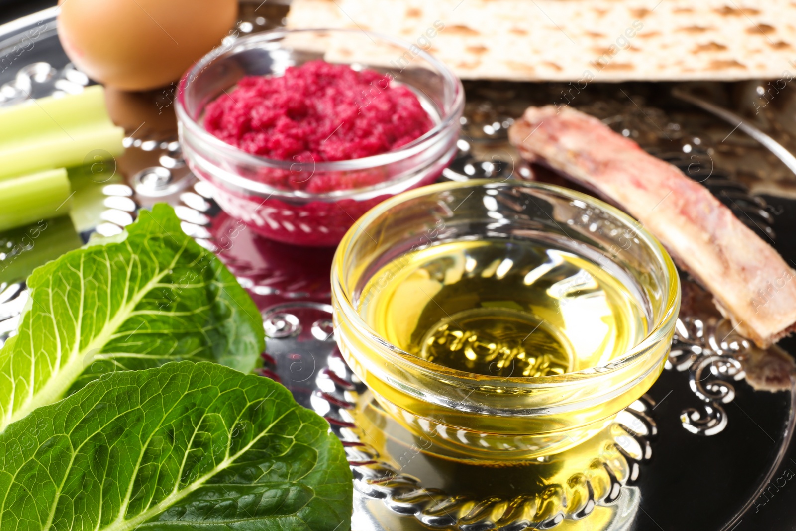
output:
[[[363,318],[363,288],[408,252],[457,240],[527,239],[572,249],[636,294],[646,326],[603,365],[545,377],[449,369],[404,352]],[[373,285],[373,284],[370,284]],[[380,405],[432,453],[452,459],[532,459],[606,428],[661,373],[680,307],[680,281],[661,244],[638,222],[583,193],[507,181],[450,182],[412,190],[366,213],[332,267],[336,338]]]

